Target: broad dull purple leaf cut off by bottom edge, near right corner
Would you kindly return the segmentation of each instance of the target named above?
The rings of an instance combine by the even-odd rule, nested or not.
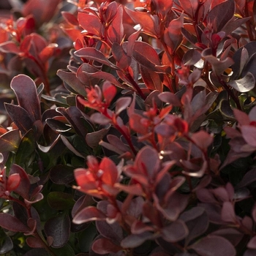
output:
[[[221,236],[207,236],[192,244],[190,248],[201,256],[236,256],[233,244]]]

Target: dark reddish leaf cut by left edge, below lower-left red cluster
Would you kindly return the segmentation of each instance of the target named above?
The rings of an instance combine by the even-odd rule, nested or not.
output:
[[[0,226],[13,232],[24,233],[29,231],[29,227],[26,227],[20,220],[10,214],[0,214]]]

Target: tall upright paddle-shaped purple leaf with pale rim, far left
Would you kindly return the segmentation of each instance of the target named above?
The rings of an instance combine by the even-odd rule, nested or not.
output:
[[[31,120],[41,120],[41,108],[34,80],[26,75],[17,75],[12,78],[10,86],[15,91],[20,107],[29,113]]]

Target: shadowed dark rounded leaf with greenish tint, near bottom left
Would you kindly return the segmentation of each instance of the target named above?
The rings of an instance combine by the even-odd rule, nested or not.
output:
[[[70,219],[67,214],[53,217],[45,222],[45,234],[53,238],[53,248],[59,248],[67,244],[70,234]]]

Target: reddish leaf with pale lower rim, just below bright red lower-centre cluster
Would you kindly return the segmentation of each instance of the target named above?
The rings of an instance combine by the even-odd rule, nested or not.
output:
[[[105,220],[106,216],[94,206],[83,208],[75,215],[73,222],[75,224],[82,224],[84,222],[91,222],[94,220]]]

